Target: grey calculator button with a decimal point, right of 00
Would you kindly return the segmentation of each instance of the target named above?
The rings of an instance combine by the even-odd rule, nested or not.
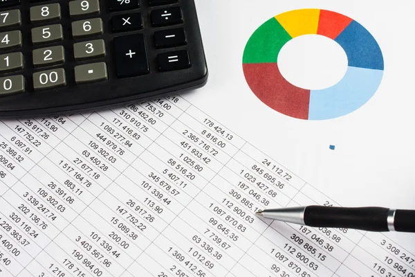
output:
[[[108,80],[107,64],[105,62],[75,66],[75,82],[77,84],[104,80]]]

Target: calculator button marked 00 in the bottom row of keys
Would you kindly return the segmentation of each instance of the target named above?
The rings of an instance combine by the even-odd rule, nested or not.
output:
[[[64,69],[50,69],[33,74],[33,89],[53,89],[66,86],[66,75]]]

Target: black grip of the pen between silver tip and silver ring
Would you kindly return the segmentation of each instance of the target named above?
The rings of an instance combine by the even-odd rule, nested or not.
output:
[[[387,224],[388,213],[389,208],[380,207],[341,208],[307,206],[304,211],[304,223],[313,227],[348,228],[382,232],[389,231]],[[410,225],[410,222],[405,222],[402,227],[406,228],[408,225]]]

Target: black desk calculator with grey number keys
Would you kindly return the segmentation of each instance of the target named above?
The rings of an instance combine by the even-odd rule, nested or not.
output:
[[[194,0],[0,0],[0,117],[115,107],[207,78]]]

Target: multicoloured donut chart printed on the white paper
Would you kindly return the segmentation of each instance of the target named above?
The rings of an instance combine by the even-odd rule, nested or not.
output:
[[[348,67],[344,78],[327,89],[311,90],[288,82],[278,68],[279,51],[301,35],[322,35],[342,46]],[[302,9],[266,21],[243,52],[243,73],[253,93],[286,116],[326,120],[355,111],[374,96],[383,76],[378,42],[357,21],[337,12]]]

